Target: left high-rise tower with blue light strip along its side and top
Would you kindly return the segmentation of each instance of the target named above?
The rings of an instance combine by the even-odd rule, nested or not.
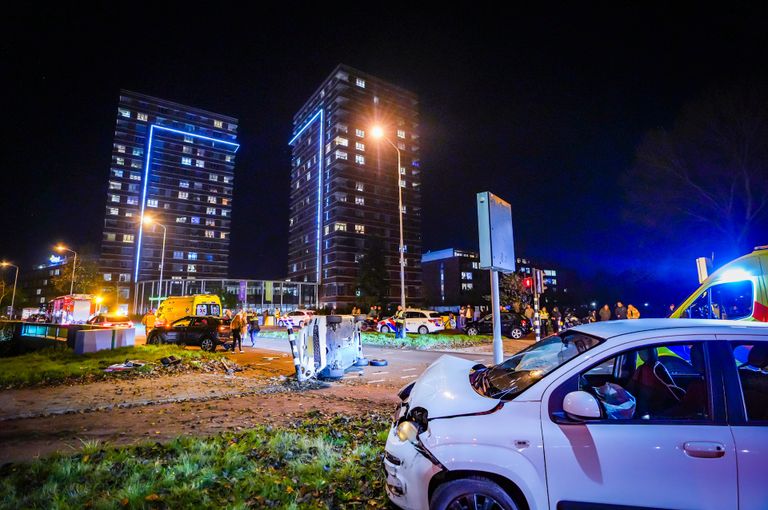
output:
[[[237,119],[120,91],[101,247],[105,287],[226,277]],[[145,225],[141,218],[155,224]]]

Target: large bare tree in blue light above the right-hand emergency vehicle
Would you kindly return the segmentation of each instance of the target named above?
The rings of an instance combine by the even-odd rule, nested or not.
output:
[[[742,252],[768,212],[765,88],[711,91],[687,105],[672,129],[647,134],[623,184],[631,219]]]

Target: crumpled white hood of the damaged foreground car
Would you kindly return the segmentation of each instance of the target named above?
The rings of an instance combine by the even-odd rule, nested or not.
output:
[[[441,356],[416,379],[409,407],[423,407],[429,419],[490,411],[499,401],[479,395],[469,384],[469,372],[475,365],[455,356]]]

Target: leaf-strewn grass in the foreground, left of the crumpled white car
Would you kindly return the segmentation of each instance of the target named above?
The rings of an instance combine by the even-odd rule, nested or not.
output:
[[[387,420],[309,413],[288,427],[0,468],[2,508],[381,508]]]

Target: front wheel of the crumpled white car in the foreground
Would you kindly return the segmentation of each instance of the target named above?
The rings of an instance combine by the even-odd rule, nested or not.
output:
[[[518,505],[497,484],[482,477],[462,478],[439,486],[429,502],[431,510],[483,508],[518,510]]]

